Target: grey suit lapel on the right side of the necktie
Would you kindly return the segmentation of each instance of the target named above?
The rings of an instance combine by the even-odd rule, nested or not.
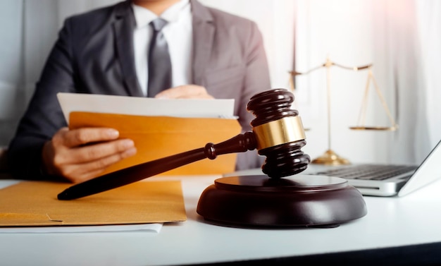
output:
[[[192,82],[204,86],[206,85],[204,84],[204,71],[209,63],[215,28],[208,9],[199,4],[198,1],[190,0],[190,2],[193,16]]]

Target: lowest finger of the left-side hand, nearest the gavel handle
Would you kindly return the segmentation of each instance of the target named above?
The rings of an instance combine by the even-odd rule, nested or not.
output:
[[[87,181],[101,175],[103,171],[112,164],[116,164],[122,159],[135,155],[136,152],[136,148],[133,147],[116,155],[104,157],[92,162],[86,162],[84,164],[72,164],[65,167],[62,174],[66,177],[66,179],[72,181],[73,183]]]

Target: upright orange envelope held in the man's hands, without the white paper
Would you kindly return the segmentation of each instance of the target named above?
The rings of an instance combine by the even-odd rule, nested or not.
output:
[[[135,116],[73,111],[69,128],[109,127],[120,132],[120,138],[135,142],[137,154],[106,169],[112,171],[149,162],[180,152],[221,143],[241,132],[236,119],[180,118],[170,116]],[[166,175],[223,174],[235,170],[237,155],[220,155],[166,171]]]

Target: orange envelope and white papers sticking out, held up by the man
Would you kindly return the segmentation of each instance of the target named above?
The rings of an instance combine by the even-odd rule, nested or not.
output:
[[[104,174],[180,152],[221,143],[241,131],[234,99],[153,99],[59,93],[69,128],[109,127],[134,140],[137,155]],[[167,175],[223,174],[235,170],[237,155],[222,155],[167,171]]]

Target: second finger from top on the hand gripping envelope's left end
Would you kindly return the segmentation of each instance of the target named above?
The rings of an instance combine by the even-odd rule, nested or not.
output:
[[[92,162],[112,155],[118,155],[133,147],[135,147],[133,140],[112,140],[105,143],[77,147],[73,150],[70,158],[74,164]]]

